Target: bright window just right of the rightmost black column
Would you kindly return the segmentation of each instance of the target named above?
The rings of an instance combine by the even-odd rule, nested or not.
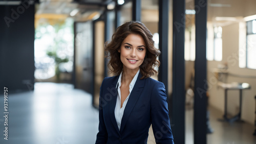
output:
[[[209,45],[209,40],[207,43],[207,60],[222,61],[222,27],[214,27],[213,46]]]

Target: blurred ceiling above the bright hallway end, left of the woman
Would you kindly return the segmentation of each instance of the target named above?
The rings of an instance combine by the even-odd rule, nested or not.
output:
[[[36,16],[66,15],[82,21],[93,18],[105,9],[111,0],[39,0],[36,6]],[[73,15],[71,12],[73,11]],[[72,16],[71,16],[72,15]]]

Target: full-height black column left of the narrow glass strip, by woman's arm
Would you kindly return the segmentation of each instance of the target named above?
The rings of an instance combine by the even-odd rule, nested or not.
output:
[[[185,143],[185,0],[173,1],[172,130],[175,143]]]

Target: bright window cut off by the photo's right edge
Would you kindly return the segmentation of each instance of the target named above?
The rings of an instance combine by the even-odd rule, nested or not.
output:
[[[256,69],[256,20],[246,22],[246,67]]]

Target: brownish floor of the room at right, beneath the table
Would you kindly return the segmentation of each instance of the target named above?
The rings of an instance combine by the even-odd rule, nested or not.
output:
[[[248,123],[219,121],[222,119],[223,113],[213,107],[209,107],[210,126],[214,130],[213,133],[207,134],[207,144],[255,144],[256,136],[252,133],[255,127]],[[253,113],[254,114],[254,113]],[[193,134],[193,115],[194,110],[186,110],[186,144],[194,143]]]

